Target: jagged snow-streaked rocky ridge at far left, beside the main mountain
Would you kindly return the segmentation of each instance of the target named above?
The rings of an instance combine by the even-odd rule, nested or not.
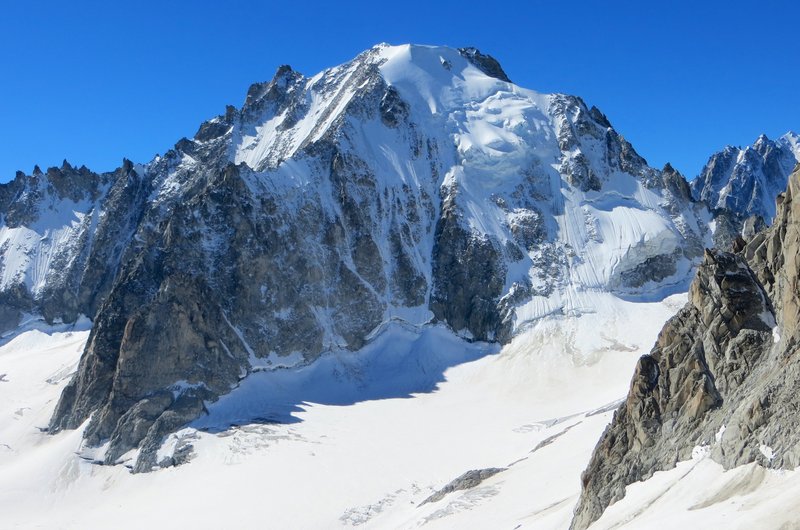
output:
[[[31,314],[74,322],[96,313],[147,198],[130,196],[134,175],[127,161],[103,175],[64,161],[0,185],[0,331]]]

